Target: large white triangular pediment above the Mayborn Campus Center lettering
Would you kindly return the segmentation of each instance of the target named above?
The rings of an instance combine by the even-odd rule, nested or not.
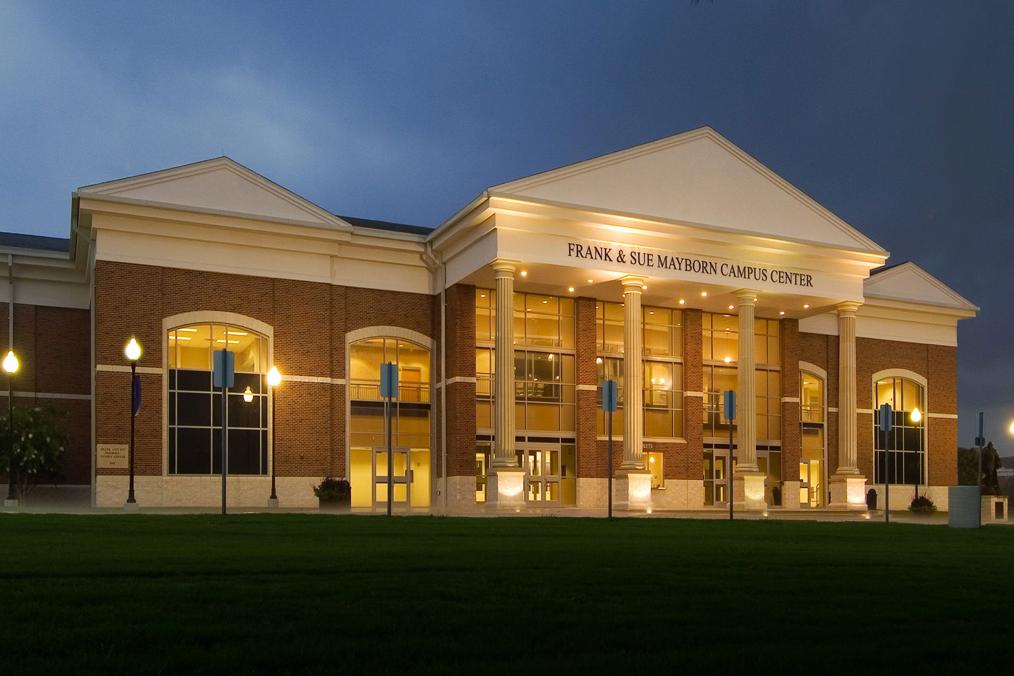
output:
[[[490,193],[886,253],[710,127],[504,183]]]

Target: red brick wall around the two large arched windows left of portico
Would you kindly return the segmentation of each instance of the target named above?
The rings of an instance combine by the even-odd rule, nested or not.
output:
[[[123,345],[136,335],[142,367],[162,367],[162,320],[194,311],[231,312],[274,327],[274,363],[283,376],[346,377],[345,336],[370,326],[397,326],[439,341],[439,296],[99,261],[95,266],[95,352],[98,364],[126,365]],[[131,302],[121,301],[132,289]],[[435,354],[439,366],[439,353]],[[439,378],[438,369],[434,380]],[[163,466],[161,374],[142,374],[145,393],[136,420],[136,470]],[[97,442],[129,440],[129,388],[122,373],[96,375]],[[283,381],[277,392],[276,473],[346,473],[346,388]],[[439,411],[433,409],[433,428]],[[434,445],[439,455],[439,446]],[[100,470],[117,474],[124,470]]]

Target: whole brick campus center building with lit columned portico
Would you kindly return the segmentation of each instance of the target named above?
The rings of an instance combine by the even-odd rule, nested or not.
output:
[[[282,506],[323,476],[382,503],[385,361],[399,509],[601,508],[610,472],[621,509],[721,509],[730,469],[745,509],[860,509],[885,455],[892,506],[918,485],[946,509],[956,483],[977,308],[708,127],[494,186],[432,230],[218,157],[80,188],[69,240],[3,236],[16,401],[68,409],[66,482],[98,506],[128,491],[131,337],[142,506],[219,503],[223,347],[236,505],[267,506],[272,472]]]

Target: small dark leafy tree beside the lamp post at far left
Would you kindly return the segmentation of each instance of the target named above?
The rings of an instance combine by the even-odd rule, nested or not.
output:
[[[14,467],[21,499],[42,478],[60,478],[67,434],[58,427],[66,417],[52,406],[14,407]],[[0,467],[10,472],[10,422],[7,411],[0,416]]]

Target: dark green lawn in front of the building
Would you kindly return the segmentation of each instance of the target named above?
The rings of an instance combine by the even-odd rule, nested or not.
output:
[[[35,673],[995,671],[1014,529],[0,515]]]

